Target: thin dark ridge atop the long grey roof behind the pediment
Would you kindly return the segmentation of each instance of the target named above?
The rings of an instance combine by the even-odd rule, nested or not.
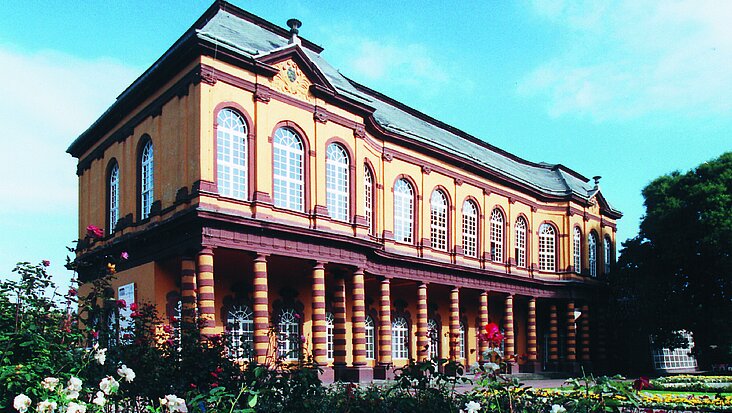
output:
[[[430,115],[428,115],[428,114],[426,114],[424,112],[421,112],[421,111],[419,111],[419,110],[417,110],[417,109],[415,109],[413,107],[410,107],[410,106],[408,106],[408,105],[406,105],[406,104],[404,104],[402,102],[399,102],[398,100],[396,100],[394,98],[391,98],[391,97],[389,97],[389,96],[387,96],[387,95],[385,95],[385,94],[383,94],[381,92],[378,92],[378,91],[376,91],[374,89],[371,89],[368,86],[362,85],[362,84],[356,82],[355,80],[349,78],[348,76],[344,75],[340,71],[338,73],[341,76],[343,76],[343,78],[345,78],[349,83],[351,83],[351,85],[353,85],[353,87],[355,87],[359,91],[361,91],[361,92],[363,92],[365,94],[368,94],[368,95],[370,95],[370,96],[372,96],[372,97],[374,97],[376,99],[380,99],[380,100],[386,102],[387,104],[394,106],[395,108],[397,108],[399,110],[402,110],[404,112],[407,112],[408,114],[410,114],[412,116],[415,116],[415,117],[419,118],[420,120],[423,120],[425,122],[428,122],[428,123],[430,123],[430,124],[432,124],[432,125],[440,128],[440,129],[443,129],[443,130],[445,130],[447,132],[450,132],[450,133],[452,133],[452,134],[454,134],[454,135],[456,135],[456,136],[458,136],[460,138],[463,138],[463,139],[467,140],[468,142],[471,142],[471,143],[474,143],[476,145],[479,145],[479,146],[481,146],[481,147],[483,147],[485,149],[488,149],[490,151],[493,151],[493,152],[495,152],[495,153],[497,153],[499,155],[505,156],[505,157],[507,157],[507,158],[509,158],[509,159],[511,159],[513,161],[516,161],[518,163],[521,163],[521,164],[524,164],[524,165],[527,165],[527,166],[531,166],[531,167],[534,167],[534,168],[547,169],[547,170],[555,170],[555,169],[559,168],[559,169],[567,172],[568,174],[572,175],[573,177],[576,177],[578,179],[584,180],[584,182],[588,182],[589,181],[589,179],[587,179],[586,177],[582,176],[580,173],[578,173],[578,172],[576,172],[576,171],[574,171],[572,169],[569,169],[569,168],[567,168],[566,166],[564,166],[562,164],[550,164],[550,163],[546,163],[546,162],[532,162],[532,161],[526,160],[524,158],[521,158],[518,155],[515,155],[515,154],[513,154],[511,152],[508,152],[508,151],[506,151],[504,149],[501,149],[501,148],[499,148],[497,146],[491,145],[490,143],[488,143],[488,142],[486,142],[486,141],[484,141],[484,140],[482,140],[482,139],[480,139],[480,138],[478,138],[476,136],[473,136],[473,135],[471,135],[471,134],[469,134],[469,133],[467,133],[467,132],[465,132],[465,131],[463,131],[461,129],[458,129],[458,128],[452,126],[452,125],[449,125],[449,124],[447,124],[447,123],[445,123],[445,122],[443,122],[443,121],[441,121],[439,119],[436,119],[436,118],[434,118],[434,117],[432,117],[432,116],[430,116]]]

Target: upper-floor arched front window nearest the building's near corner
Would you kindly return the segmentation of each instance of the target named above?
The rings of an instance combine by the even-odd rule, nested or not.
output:
[[[216,180],[219,194],[247,199],[247,124],[233,109],[216,118]]]

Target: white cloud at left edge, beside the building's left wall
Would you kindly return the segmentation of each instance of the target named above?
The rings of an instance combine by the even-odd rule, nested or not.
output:
[[[0,47],[0,213],[68,207],[75,215],[75,159],[68,145],[138,71],[109,59]],[[10,177],[10,179],[8,179]]]

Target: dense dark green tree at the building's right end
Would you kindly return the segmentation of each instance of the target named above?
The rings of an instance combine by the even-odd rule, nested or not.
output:
[[[619,346],[648,355],[648,336],[677,347],[693,333],[702,363],[732,362],[732,152],[643,189],[646,214],[611,279]]]

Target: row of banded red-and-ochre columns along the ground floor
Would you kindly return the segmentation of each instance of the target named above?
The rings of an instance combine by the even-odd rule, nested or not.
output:
[[[181,260],[181,303],[184,319],[192,320],[197,313],[201,319],[201,332],[204,335],[220,333],[216,328],[216,309],[214,291],[214,252],[210,248],[204,248],[195,259],[183,258]],[[257,254],[253,261],[253,328],[254,328],[254,355],[259,362],[265,362],[272,354],[270,342],[270,331],[272,326],[272,314],[270,313],[270,291],[268,288],[268,256]],[[319,365],[328,364],[328,334],[326,322],[326,262],[315,262],[311,272],[311,303],[312,311],[310,320],[312,322],[312,355]],[[350,278],[350,291],[346,289],[346,278],[335,277],[334,285],[331,286],[331,308],[333,313],[333,367],[334,368],[355,368],[363,370],[368,364],[366,359],[366,293],[365,273],[363,268],[355,268]],[[375,365],[382,369],[389,369],[393,365],[392,360],[392,293],[391,277],[376,277],[379,285],[378,300],[378,327],[375,326],[376,341],[374,343]],[[426,282],[414,282],[416,285],[416,325],[413,333],[416,332],[416,354],[410,354],[410,358],[427,359],[430,351],[430,338],[428,326],[428,295],[429,284]],[[461,288],[448,286],[449,295],[449,340],[448,354],[451,360],[461,359],[460,346],[460,308]],[[479,300],[474,305],[478,306],[479,328],[489,322],[489,291],[483,290],[479,293]],[[493,293],[490,299],[494,299]],[[503,335],[504,354],[516,355],[516,323],[514,320],[514,294],[500,294],[503,299]],[[348,300],[346,299],[349,297]],[[542,299],[543,300],[543,299]],[[548,357],[547,369],[560,367],[559,337],[560,318],[558,313],[558,299],[546,299],[544,308],[548,309]],[[351,308],[346,308],[347,301]],[[539,341],[537,337],[537,297],[523,297],[522,302],[527,303],[525,342],[526,352],[522,356],[522,369],[527,371],[540,371]],[[575,315],[575,302],[573,300],[562,300],[566,302],[566,313],[562,324],[565,333],[565,364],[576,364],[579,360],[582,363],[590,362],[590,319],[589,304],[581,304],[582,316],[577,320]],[[347,317],[350,317],[350,331],[347,331]],[[350,332],[350,335],[348,334]],[[412,335],[414,336],[414,334]],[[347,366],[347,341],[351,339],[352,358],[351,366]],[[522,335],[524,337],[524,335]],[[410,340],[412,337],[410,337]],[[468,340],[464,345],[468,347]],[[477,344],[478,359],[482,359],[489,349],[485,340],[479,340]]]

